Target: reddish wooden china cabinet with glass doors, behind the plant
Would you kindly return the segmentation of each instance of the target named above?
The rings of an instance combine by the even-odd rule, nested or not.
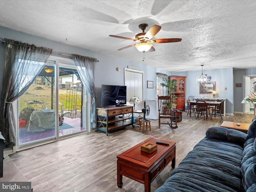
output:
[[[186,91],[186,77],[185,76],[169,76],[170,80],[177,81],[177,88],[172,93],[175,94],[177,100],[175,101],[177,110],[185,110],[185,91]]]

